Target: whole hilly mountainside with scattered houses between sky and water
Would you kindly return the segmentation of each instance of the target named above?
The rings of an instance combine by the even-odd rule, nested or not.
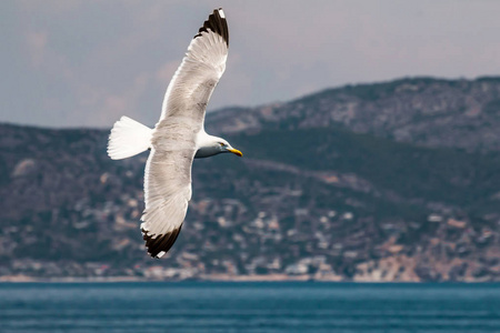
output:
[[[138,228],[147,153],[111,161],[108,131],[0,125],[0,276],[500,280],[500,78],[349,85],[207,128],[244,158],[194,161],[158,261]]]

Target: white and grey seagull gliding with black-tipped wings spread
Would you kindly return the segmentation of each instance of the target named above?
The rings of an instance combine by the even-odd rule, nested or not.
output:
[[[153,129],[122,117],[111,129],[108,155],[121,160],[150,150],[144,172],[141,232],[148,253],[163,256],[179,235],[191,200],[193,159],[243,154],[222,138],[207,134],[207,103],[226,70],[229,30],[214,9],[191,40],[164,94]]]

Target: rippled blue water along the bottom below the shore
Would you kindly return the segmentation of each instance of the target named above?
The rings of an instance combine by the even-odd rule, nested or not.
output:
[[[500,284],[0,284],[0,332],[500,332]]]

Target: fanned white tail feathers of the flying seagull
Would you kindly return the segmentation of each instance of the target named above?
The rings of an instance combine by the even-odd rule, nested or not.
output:
[[[120,118],[111,130],[108,155],[112,160],[127,159],[151,147],[152,130],[128,117]]]

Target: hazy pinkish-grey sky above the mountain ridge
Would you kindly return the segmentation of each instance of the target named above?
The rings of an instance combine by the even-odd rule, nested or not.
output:
[[[153,125],[191,38],[229,22],[209,110],[347,83],[500,74],[500,1],[0,1],[0,122]]]

